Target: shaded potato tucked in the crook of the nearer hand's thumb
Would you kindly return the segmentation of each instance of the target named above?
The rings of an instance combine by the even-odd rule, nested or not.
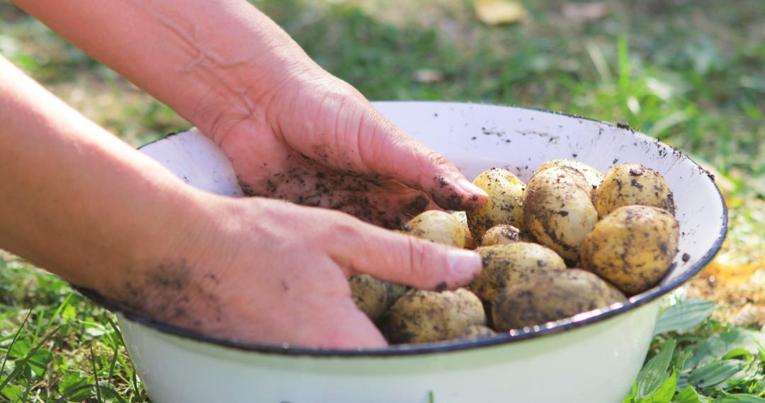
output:
[[[406,291],[403,285],[375,279],[368,274],[350,276],[350,296],[372,321],[378,321]]]

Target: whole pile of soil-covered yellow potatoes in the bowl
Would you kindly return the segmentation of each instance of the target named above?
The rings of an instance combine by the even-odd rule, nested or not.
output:
[[[506,169],[474,184],[489,195],[473,211],[425,211],[402,232],[476,248],[483,271],[454,291],[350,279],[353,300],[390,343],[489,337],[626,301],[656,285],[678,250],[666,181],[646,166],[605,175],[575,160],[542,164],[528,183]]]

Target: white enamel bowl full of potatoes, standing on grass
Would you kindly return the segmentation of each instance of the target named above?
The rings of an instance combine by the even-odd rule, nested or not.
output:
[[[484,169],[503,166],[528,180],[539,164],[555,158],[575,158],[603,172],[617,163],[656,169],[675,193],[682,231],[672,271],[627,304],[494,338],[386,350],[233,343],[116,308],[129,353],[151,398],[269,403],[621,401],[645,359],[659,297],[698,273],[724,238],[726,209],[708,173],[682,153],[629,127],[586,118],[461,103],[381,102],[376,107],[412,137],[447,156],[470,179]],[[242,195],[229,162],[197,131],[158,140],[142,152],[191,185]]]

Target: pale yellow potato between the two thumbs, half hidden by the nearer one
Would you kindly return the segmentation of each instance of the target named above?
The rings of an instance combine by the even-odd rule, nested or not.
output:
[[[438,210],[425,211],[406,223],[405,233],[414,237],[465,247],[465,230],[453,215]]]

